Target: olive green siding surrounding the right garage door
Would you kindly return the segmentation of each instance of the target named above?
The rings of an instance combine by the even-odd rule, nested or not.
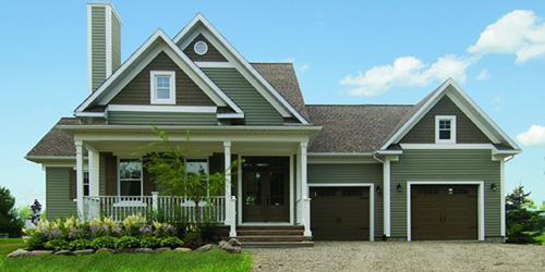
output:
[[[408,181],[484,182],[485,236],[500,236],[499,161],[492,160],[491,150],[404,150],[399,161],[391,162],[390,178],[392,237],[407,237]],[[496,191],[491,189],[493,183]]]

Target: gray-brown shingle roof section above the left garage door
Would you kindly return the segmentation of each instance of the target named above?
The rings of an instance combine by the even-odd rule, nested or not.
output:
[[[308,152],[374,152],[414,106],[311,104],[306,110],[323,126]]]

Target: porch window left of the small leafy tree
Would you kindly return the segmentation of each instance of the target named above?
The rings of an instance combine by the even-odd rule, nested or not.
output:
[[[119,160],[119,196],[142,196],[142,161],[135,159]]]

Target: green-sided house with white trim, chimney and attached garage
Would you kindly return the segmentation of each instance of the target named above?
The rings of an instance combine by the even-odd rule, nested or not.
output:
[[[49,219],[191,207],[135,157],[153,123],[190,131],[193,169],[244,159],[204,207],[230,236],[504,242],[504,165],[521,150],[455,81],[417,104],[305,104],[292,64],[247,62],[202,14],[121,62],[116,9],[87,11],[88,97],[26,156]]]

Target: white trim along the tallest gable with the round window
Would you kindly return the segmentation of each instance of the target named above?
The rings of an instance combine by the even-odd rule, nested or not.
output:
[[[264,95],[265,98],[269,98],[269,96],[271,95],[272,97],[276,98],[276,101],[279,101],[279,103],[282,106],[283,109],[287,109],[289,112],[291,112],[291,114],[294,115],[301,123],[308,124],[308,122],[293,107],[291,107],[291,104],[288,103],[288,101],[282,96],[280,96],[280,94],[267,81],[265,81],[265,78],[263,78],[263,76],[239,53],[239,51],[237,51],[237,49],[231,44],[229,44],[229,41],[210,24],[210,22],[208,22],[208,20],[206,20],[203,16],[203,14],[198,13],[197,15],[195,15],[195,17],[182,30],[180,30],[180,33],[173,39],[174,44],[178,45],[181,39],[190,35],[191,32],[195,28],[195,26],[198,25],[198,23],[204,25],[204,27],[206,27],[214,35],[214,38],[217,39],[223,47],[227,48],[230,54],[226,53],[221,47],[216,46],[218,51],[220,51],[225,58],[232,59],[230,57],[233,55],[234,61],[240,63],[245,71],[250,72],[250,74],[257,79],[261,86],[263,86],[265,89],[268,90],[268,94],[264,94],[261,91],[261,88],[257,88],[262,92],[262,95]],[[209,35],[206,35],[207,33],[202,33],[202,34],[209,42],[214,42],[214,39],[210,39]],[[242,71],[239,70],[239,72]],[[246,79],[250,78],[246,77]],[[253,85],[255,87],[255,84]],[[274,107],[276,106],[275,108],[277,108],[277,110],[279,110],[280,113],[284,112],[283,109],[278,108],[276,101],[269,100],[269,102]]]

